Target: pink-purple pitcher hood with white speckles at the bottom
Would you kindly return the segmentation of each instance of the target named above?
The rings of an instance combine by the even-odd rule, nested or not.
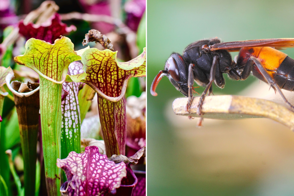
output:
[[[126,176],[126,164],[109,161],[96,146],[86,147],[83,154],[70,152],[67,158],[57,159],[56,165],[68,179],[60,191],[69,196],[104,195],[120,187]]]

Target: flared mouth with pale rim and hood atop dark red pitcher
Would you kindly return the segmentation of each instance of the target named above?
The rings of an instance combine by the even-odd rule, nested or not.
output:
[[[95,59],[95,57],[93,57],[97,57],[99,55],[101,55],[99,59]],[[109,49],[105,49],[103,51],[100,51],[97,48],[85,49],[81,55],[82,63],[84,65],[84,73],[74,76],[67,75],[65,80],[66,83],[72,81],[83,82],[88,86],[91,86],[101,97],[111,102],[118,102],[124,97],[128,80],[131,77],[146,76],[146,49],[144,48],[140,55],[128,62],[118,62],[116,56],[117,51],[113,52]],[[106,63],[108,62],[107,59],[111,61],[111,63]],[[99,60],[101,60],[101,62]],[[116,80],[107,76],[111,75],[108,73],[111,68],[115,70],[114,72],[117,72]],[[93,73],[95,71],[97,71],[96,74]],[[99,74],[98,71],[100,71],[101,74]],[[112,83],[107,83],[106,80],[103,80],[102,75],[104,77],[108,77],[108,80],[117,84],[113,85]],[[104,87],[101,88],[99,83],[107,84],[104,84]],[[107,88],[105,88],[105,85],[108,85],[109,87],[112,86],[112,88],[117,90],[114,93],[106,92]]]

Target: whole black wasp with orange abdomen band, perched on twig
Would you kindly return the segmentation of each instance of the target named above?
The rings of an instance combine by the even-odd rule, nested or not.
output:
[[[247,41],[221,42],[219,38],[203,39],[188,45],[183,55],[172,53],[164,70],[154,78],[150,92],[157,96],[156,86],[163,76],[167,76],[173,86],[188,97],[185,107],[189,111],[193,100],[194,81],[206,86],[197,107],[202,115],[202,104],[207,94],[212,93],[212,84],[223,88],[223,73],[234,80],[245,80],[252,72],[254,76],[268,83],[280,93],[292,110],[281,89],[294,90],[294,60],[279,51],[294,47],[294,38],[256,39]],[[239,51],[232,60],[230,52]],[[199,123],[200,124],[200,123]]]

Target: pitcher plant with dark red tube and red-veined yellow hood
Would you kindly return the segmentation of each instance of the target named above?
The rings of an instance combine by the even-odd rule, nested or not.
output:
[[[129,78],[146,75],[145,53],[135,59],[118,65],[116,52],[108,49],[99,51],[90,48],[84,51],[82,63],[86,72],[86,78],[81,80],[109,97],[121,95],[123,86]],[[141,58],[141,59],[140,59]],[[131,68],[124,70],[120,67]],[[81,75],[80,75],[81,76]],[[78,76],[77,76],[78,77]],[[125,155],[126,146],[126,100],[122,97],[118,102],[107,100],[98,93],[98,109],[101,122],[103,139],[106,145],[106,155]]]

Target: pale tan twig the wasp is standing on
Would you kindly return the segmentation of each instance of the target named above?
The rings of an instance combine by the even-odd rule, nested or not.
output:
[[[173,101],[173,111],[177,115],[199,117],[197,106],[200,97],[194,97],[189,112],[185,110],[188,98]],[[203,118],[270,118],[294,130],[294,113],[285,106],[273,101],[243,96],[208,96],[202,106]]]

